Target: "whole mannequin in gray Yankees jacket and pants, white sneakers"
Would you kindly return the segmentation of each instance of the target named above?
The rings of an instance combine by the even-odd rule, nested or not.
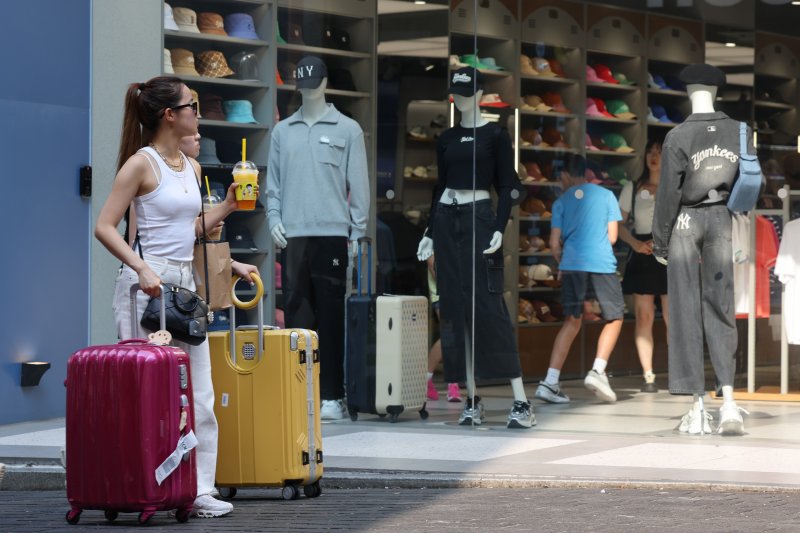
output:
[[[739,123],[714,111],[717,89],[725,84],[722,71],[689,65],[681,80],[692,114],[664,141],[653,217],[653,254],[667,265],[670,305],[681,310],[672,315],[669,329],[670,392],[693,396],[679,431],[710,433],[713,417],[703,402],[705,334],[723,397],[717,431],[742,435],[741,413],[747,412],[733,399],[737,333],[725,205],[738,172]]]

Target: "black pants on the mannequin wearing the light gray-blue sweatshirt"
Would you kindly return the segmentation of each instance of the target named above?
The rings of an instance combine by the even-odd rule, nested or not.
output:
[[[320,397],[344,398],[347,237],[287,239],[281,262],[287,328],[319,334]]]

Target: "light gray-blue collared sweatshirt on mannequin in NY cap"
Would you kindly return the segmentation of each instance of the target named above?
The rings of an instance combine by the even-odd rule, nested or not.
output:
[[[348,237],[367,231],[369,175],[364,132],[333,104],[312,126],[301,109],[272,131],[267,217],[291,237]]]

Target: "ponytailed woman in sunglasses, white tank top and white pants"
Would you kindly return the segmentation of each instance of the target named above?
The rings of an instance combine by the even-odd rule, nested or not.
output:
[[[181,140],[197,134],[197,102],[189,88],[174,77],[159,76],[132,83],[125,95],[125,114],[114,184],[97,218],[95,237],[122,261],[114,295],[114,320],[120,340],[142,338],[132,331],[130,288],[138,283],[136,324],[149,297],[161,293],[161,283],[195,289],[194,242],[237,209],[236,185],[225,200],[200,218],[200,165],[187,157]],[[133,246],[117,225],[133,206],[137,231]],[[253,265],[234,262],[233,271],[250,280]],[[212,518],[233,510],[212,494],[217,464],[217,420],[208,341],[199,346],[175,342],[191,359],[197,436],[197,499],[194,516]]]

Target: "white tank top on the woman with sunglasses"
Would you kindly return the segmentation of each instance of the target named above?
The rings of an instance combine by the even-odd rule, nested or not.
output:
[[[142,251],[173,261],[191,261],[195,220],[201,209],[194,167],[182,153],[183,171],[176,172],[149,146],[139,152],[147,154],[144,157],[158,181],[154,191],[133,200]],[[154,161],[158,169],[153,166]]]

